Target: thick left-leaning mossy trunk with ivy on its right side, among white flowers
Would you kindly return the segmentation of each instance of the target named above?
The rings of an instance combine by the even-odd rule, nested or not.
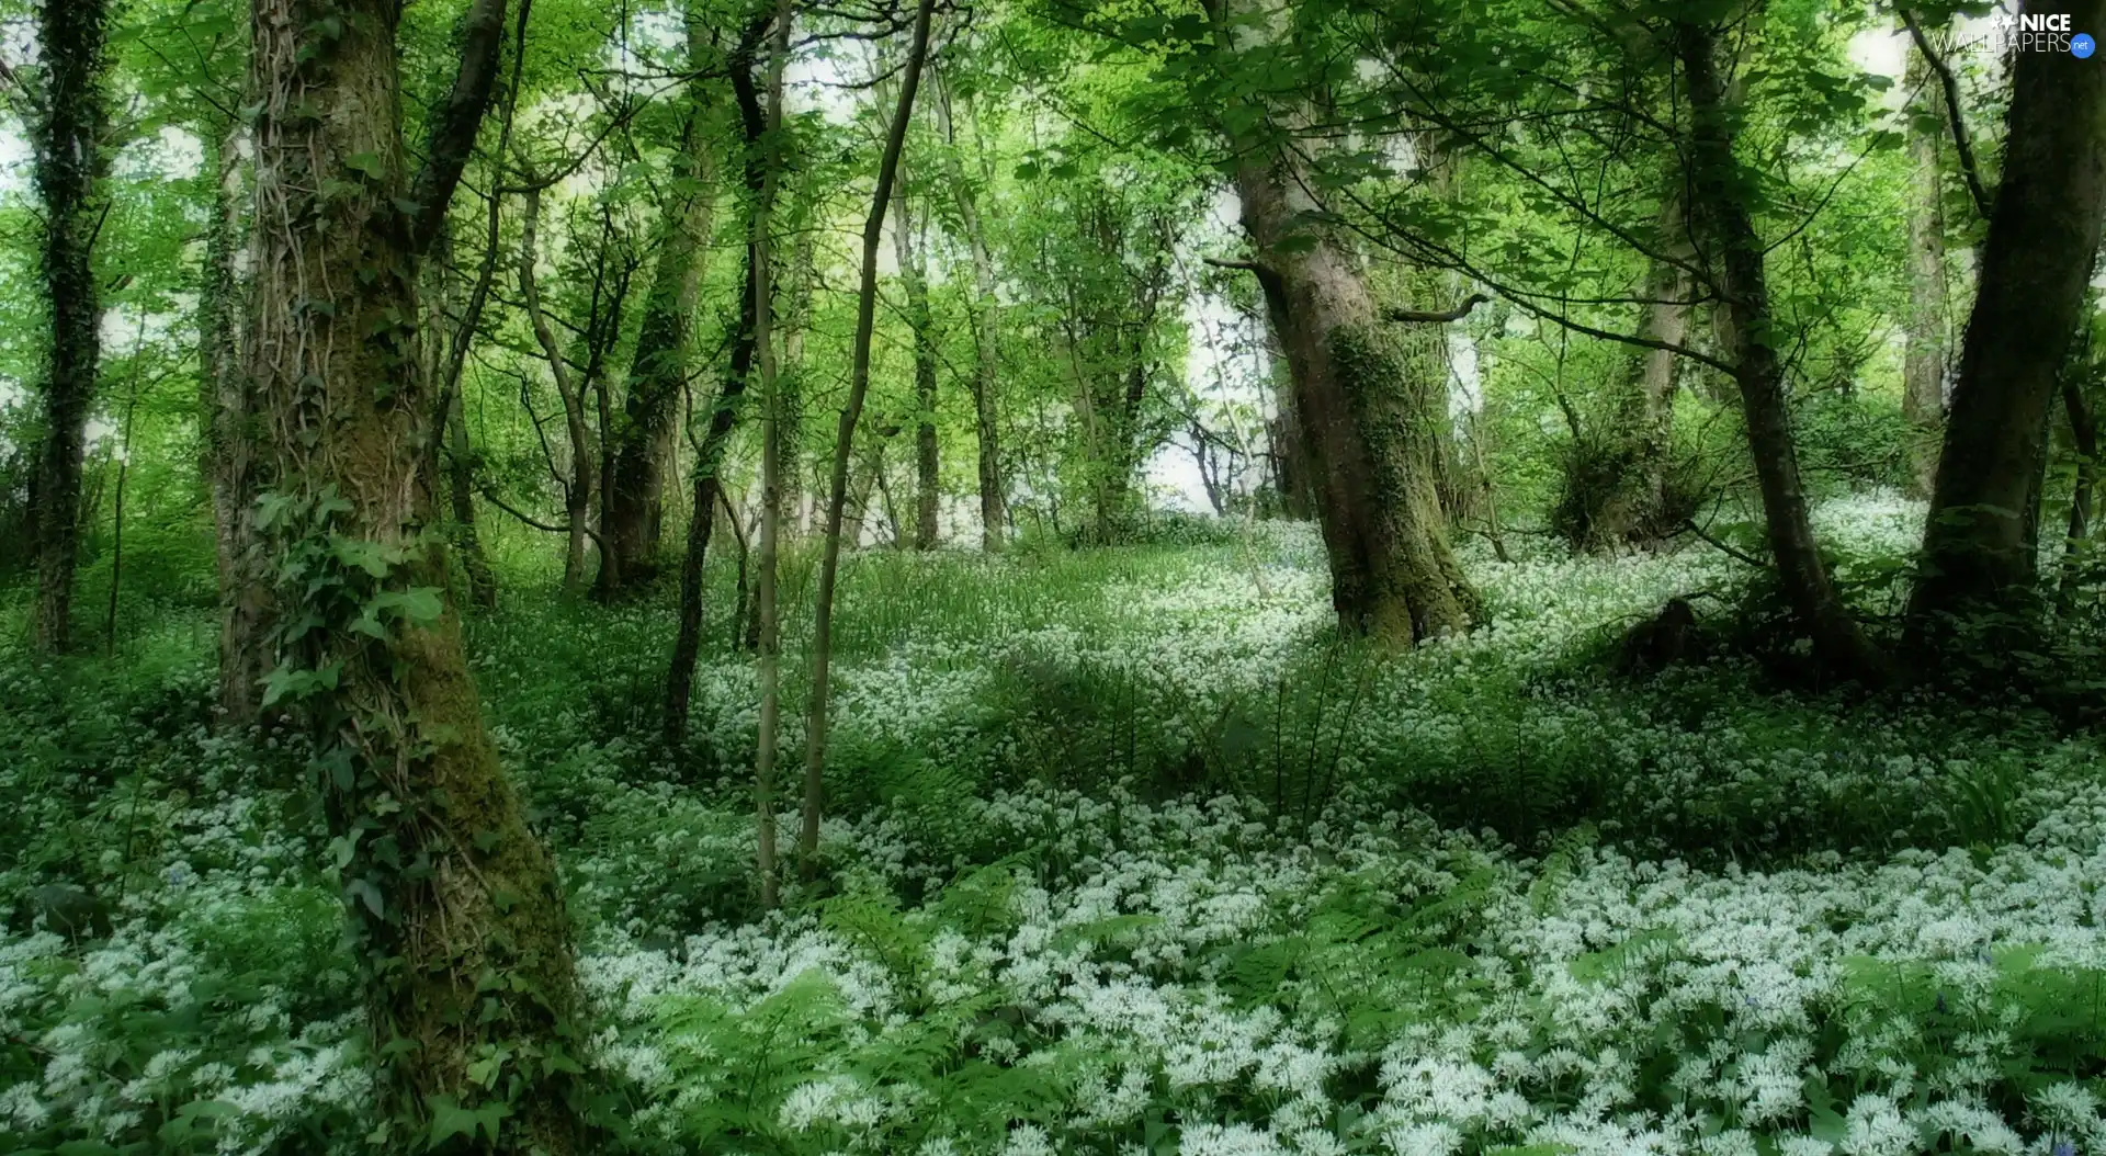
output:
[[[1245,0],[1209,0],[1207,13],[1219,55],[1236,53],[1238,36],[1268,36]],[[1232,145],[1255,251],[1245,265],[1257,274],[1293,381],[1339,630],[1388,646],[1464,632],[1476,598],[1434,493],[1447,398],[1403,373],[1356,263],[1314,223],[1318,204],[1295,150],[1236,137]]]

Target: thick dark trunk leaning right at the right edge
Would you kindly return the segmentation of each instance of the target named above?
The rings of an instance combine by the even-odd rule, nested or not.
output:
[[[2079,29],[2106,0],[2055,4]],[[2024,505],[2045,461],[2047,411],[2085,303],[2106,217],[2106,72],[2068,53],[2018,53],[2003,183],[1961,341],[1921,579],[1908,600],[1916,653],[1971,613],[2024,615],[2034,560]]]

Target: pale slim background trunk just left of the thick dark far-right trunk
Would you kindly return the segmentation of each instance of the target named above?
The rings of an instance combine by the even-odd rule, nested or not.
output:
[[[1946,221],[1938,158],[1944,97],[1929,84],[1921,51],[1908,55],[1904,86],[1921,88],[1925,109],[1908,126],[1908,322],[1902,356],[1902,417],[1916,436],[1910,484],[1929,497],[1938,478],[1938,427],[1946,413]],[[1938,118],[1940,124],[1923,120]]]

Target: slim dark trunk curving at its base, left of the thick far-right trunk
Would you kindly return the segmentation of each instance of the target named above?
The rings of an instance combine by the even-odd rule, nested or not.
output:
[[[1691,112],[1691,240],[1700,240],[1693,251],[1712,255],[1777,581],[1822,661],[1845,678],[1876,682],[1887,674],[1885,655],[1849,615],[1813,543],[1792,442],[1792,411],[1784,398],[1784,364],[1773,345],[1775,318],[1769,312],[1763,238],[1742,200],[1746,181],[1733,160],[1733,109],[1718,80],[1714,38],[1708,27],[1676,23],[1674,46],[1687,76]]]

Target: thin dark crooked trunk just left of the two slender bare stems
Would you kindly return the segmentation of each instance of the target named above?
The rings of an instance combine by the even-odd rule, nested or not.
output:
[[[754,53],[767,36],[769,19],[762,17],[741,34],[737,51],[731,55],[731,91],[739,105],[739,126],[746,135],[743,173],[746,190],[756,200],[767,183],[767,112],[760,107],[760,93],[754,86]],[[687,554],[680,556],[680,630],[672,644],[672,665],[665,674],[665,741],[680,743],[687,737],[687,714],[695,695],[695,659],[701,657],[701,564],[710,554],[710,533],[716,526],[718,491],[722,491],[720,470],[724,446],[737,427],[746,387],[754,377],[758,350],[756,297],[760,284],[760,257],[764,246],[754,232],[754,221],[746,221],[746,291],[739,295],[739,333],[731,341],[731,373],[710,408],[710,427],[695,453],[695,501],[687,522]],[[773,299],[769,301],[773,310]]]

